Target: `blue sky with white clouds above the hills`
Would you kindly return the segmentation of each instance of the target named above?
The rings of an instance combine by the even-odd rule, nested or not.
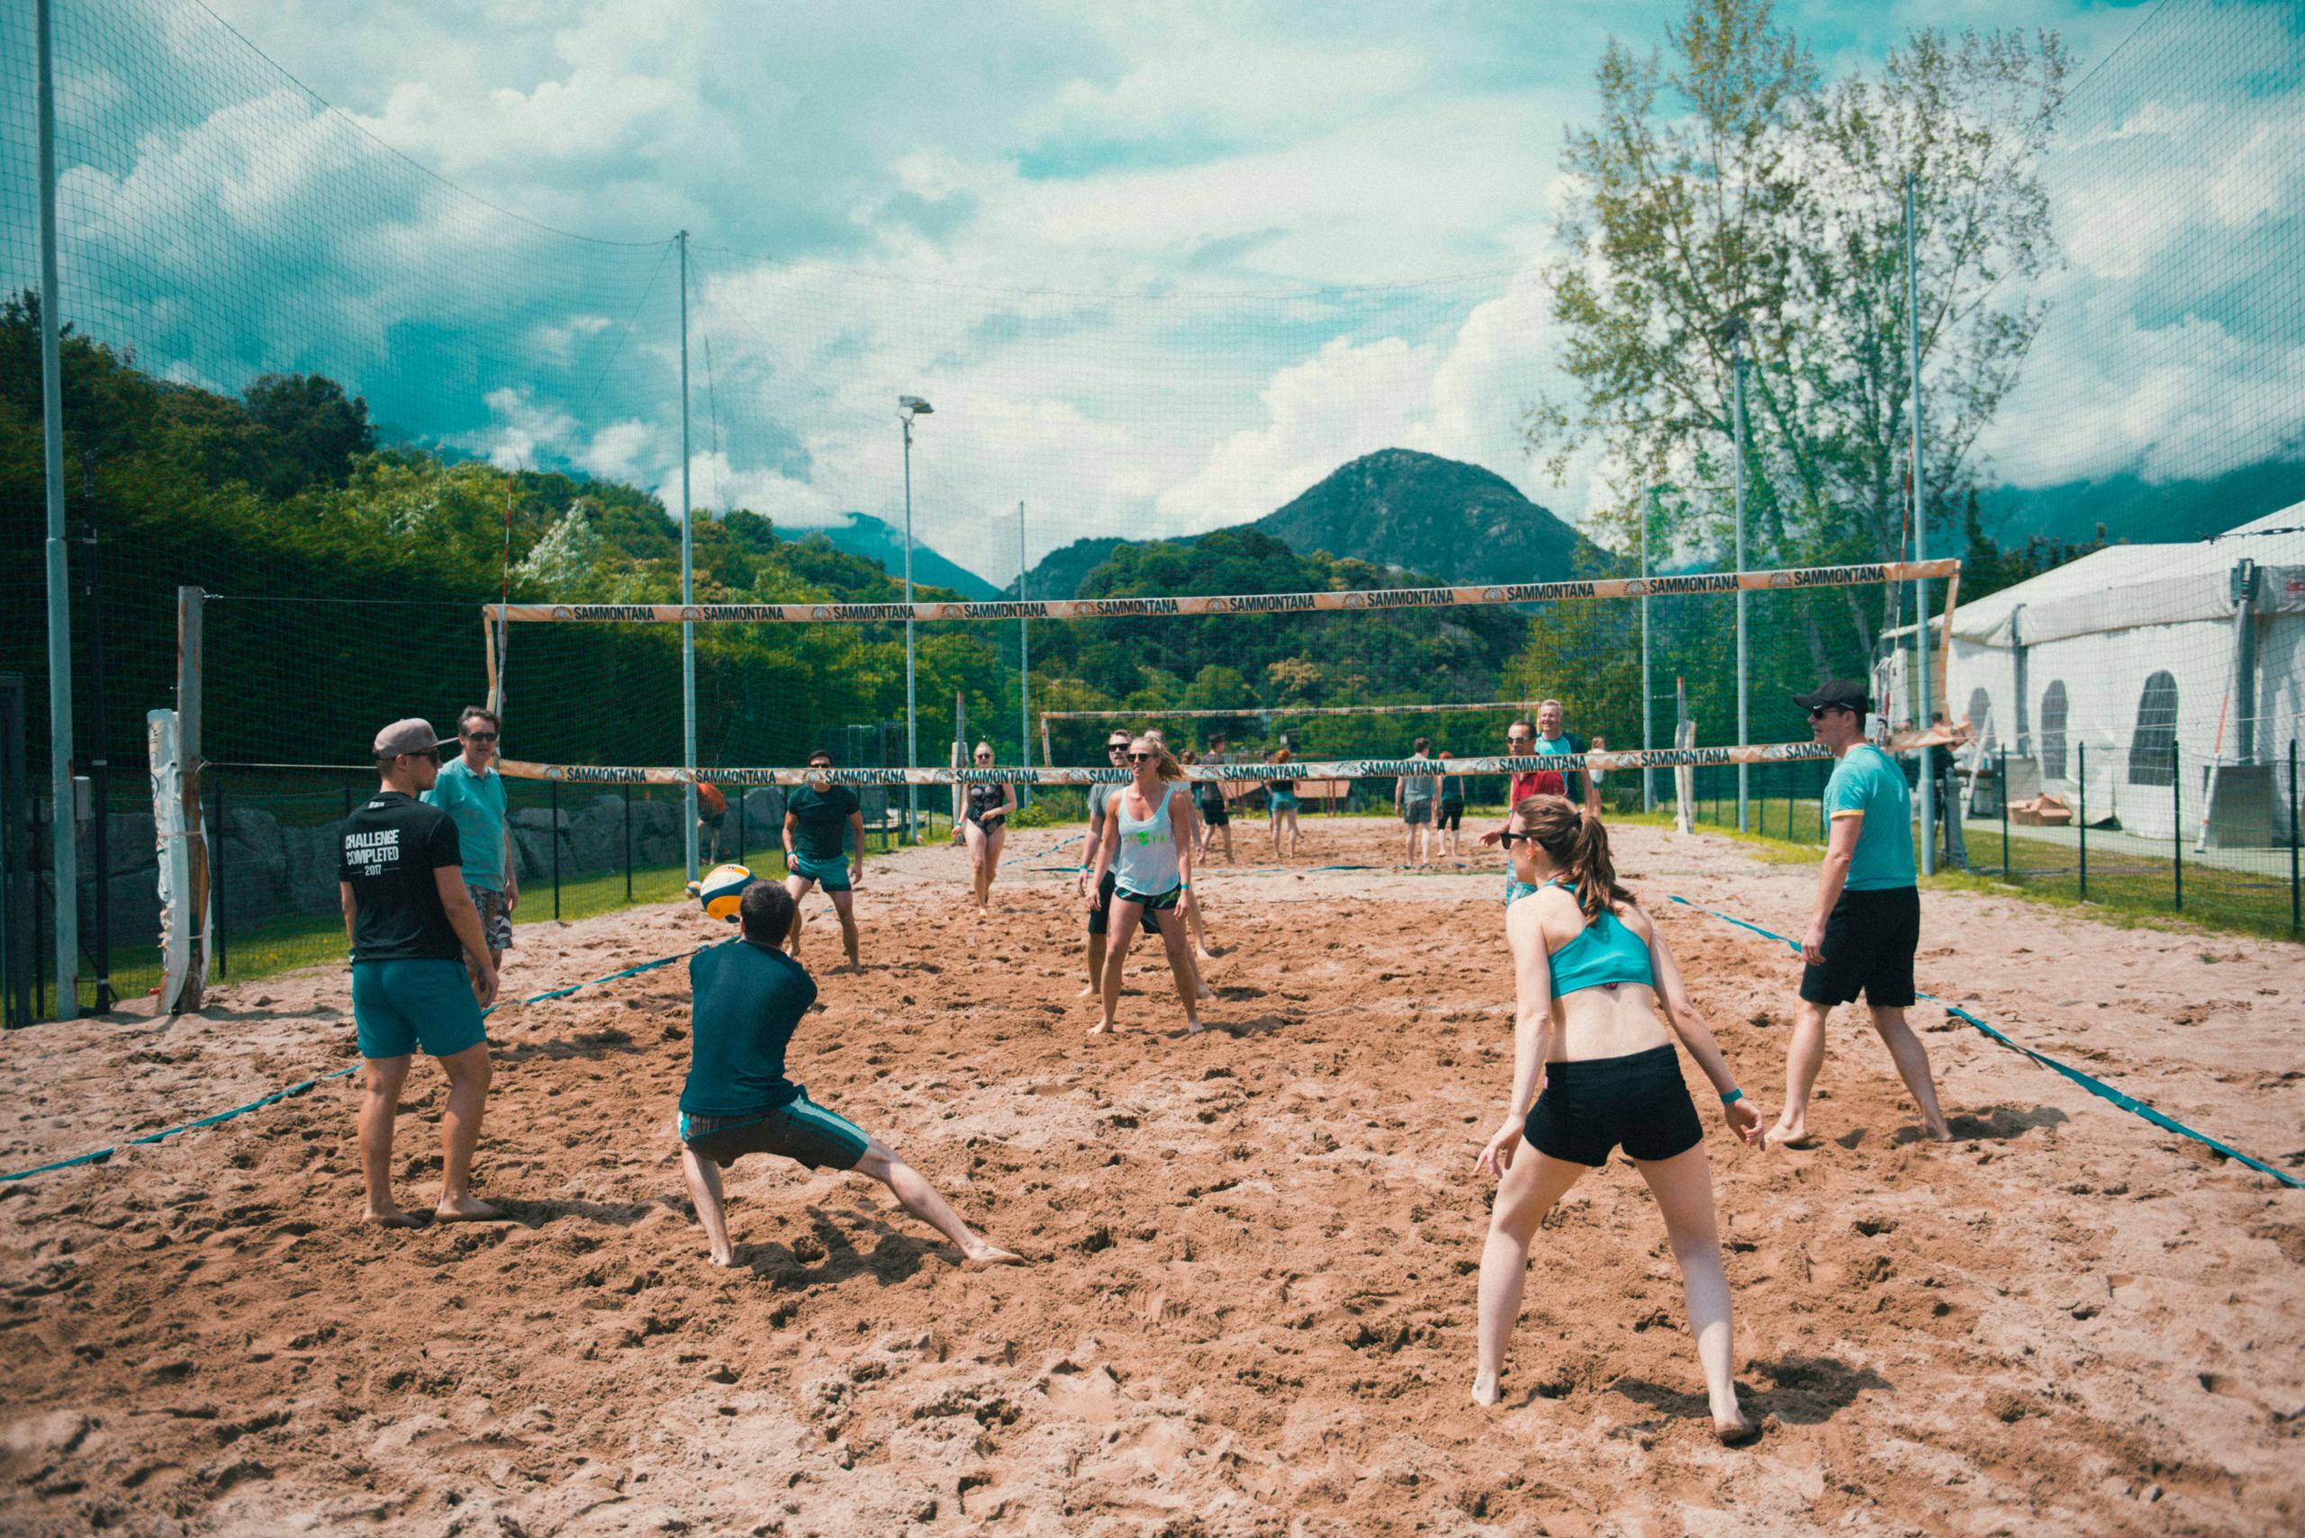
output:
[[[1678,5],[212,0],[341,117],[187,0],[58,7],[67,295],[81,262],[118,290],[83,313],[180,378],[327,368],[468,451],[678,497],[687,228],[698,502],[894,516],[901,389],[938,401],[922,536],[1000,580],[1019,500],[1037,555],[1254,518],[1390,442],[1572,518],[1607,495],[1512,424],[1560,389],[1535,267],[1563,127],[1604,41],[1662,44]],[[1911,25],[2054,28],[2081,74],[2146,9],[1779,21],[1828,74]],[[2199,472],[2305,396],[2296,279],[2231,258],[2296,269],[2298,9],[2185,25],[2215,46],[2116,60],[2051,161],[2070,262],[1987,444],[2017,484]]]

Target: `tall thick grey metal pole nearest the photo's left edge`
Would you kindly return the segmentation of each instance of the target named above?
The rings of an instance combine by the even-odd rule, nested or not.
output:
[[[71,794],[71,573],[65,559],[65,371],[55,295],[55,53],[48,0],[39,53],[39,435],[48,477],[48,866],[55,877],[55,1018],[81,1013],[81,817]],[[101,617],[97,619],[101,624]],[[99,877],[101,880],[101,877]]]

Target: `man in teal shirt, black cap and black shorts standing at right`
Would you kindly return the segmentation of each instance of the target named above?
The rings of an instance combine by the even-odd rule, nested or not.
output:
[[[1872,700],[1862,684],[1832,679],[1816,693],[1793,695],[1793,702],[1809,711],[1809,732],[1839,762],[1826,781],[1830,838],[1816,877],[1816,909],[1800,942],[1807,967],[1784,1057],[1784,1112],[1768,1142],[1809,1142],[1809,1091],[1826,1064],[1826,1015],[1835,1004],[1853,1004],[1860,992],[1920,1107],[1922,1130],[1943,1142],[1952,1133],[1936,1105],[1929,1052],[1904,1022],[1913,1004],[1913,951],[1920,946],[1913,794],[1897,760],[1865,741]]]

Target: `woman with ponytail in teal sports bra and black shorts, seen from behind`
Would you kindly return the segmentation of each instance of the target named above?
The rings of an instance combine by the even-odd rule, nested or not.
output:
[[[1761,1112],[1736,1087],[1664,935],[1618,886],[1602,820],[1565,797],[1535,794],[1512,808],[1503,843],[1514,882],[1505,939],[1519,1008],[1512,1101],[1473,1165],[1498,1181],[1480,1257],[1473,1402],[1496,1404],[1537,1225],[1581,1174],[1623,1147],[1657,1197],[1680,1264],[1713,1430],[1722,1441],[1747,1441],[1754,1425],[1738,1409],[1731,1375],[1713,1170],[1673,1038],[1713,1080],[1729,1130],[1749,1147],[1759,1147]]]

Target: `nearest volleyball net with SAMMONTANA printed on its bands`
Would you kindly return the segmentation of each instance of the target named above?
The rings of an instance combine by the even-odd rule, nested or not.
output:
[[[1505,725],[1547,698],[1563,702],[1572,732],[1607,744],[1590,753],[1600,771],[1775,764],[1819,755],[1791,707],[1793,691],[1814,686],[1823,672],[1867,677],[1881,670],[1846,642],[1803,672],[1782,661],[1784,647],[1768,647],[1768,677],[1747,679],[1759,711],[1738,744],[1729,707],[1738,599],[1752,610],[1747,629],[1775,635],[1812,622],[1805,606],[1846,608],[1849,594],[1865,587],[1892,599],[1920,580],[1943,583],[1950,617],[1959,601],[1959,562],[1932,559],[1049,601],[489,603],[479,608],[479,642],[489,695],[502,702],[507,744],[516,748],[502,771],[572,785],[694,778],[798,785],[809,778],[800,764],[816,748],[834,751],[844,776],[862,785],[1090,785],[1116,774],[1102,748],[1116,723],[1166,728],[1180,757],[1224,737],[1240,757],[1286,746],[1295,760],[1286,771],[1254,762],[1194,764],[1187,776],[1196,781],[1365,781],[1436,771],[1434,762],[1404,769],[1413,737],[1452,753],[1438,767],[1443,774],[1588,767],[1584,757],[1572,764],[1498,757]],[[846,700],[837,682],[901,677],[908,619],[922,675],[920,762],[908,769],[883,753],[878,764],[855,764],[837,734],[844,716],[855,721],[867,705]],[[989,626],[1012,624],[1035,626],[1030,672],[1003,670],[984,640]],[[694,769],[682,751],[678,626],[694,626]],[[1676,721],[1690,714],[1685,705],[1643,711],[1653,705],[1641,684],[1643,629],[1653,654],[1650,693],[1680,672],[1678,695],[1687,700],[1687,675],[1696,672],[1708,700],[1703,744],[1676,741]],[[1941,645],[1950,631],[1932,626],[1932,633]],[[632,640],[645,645],[634,649]],[[970,656],[977,672],[954,688],[954,658]],[[1927,716],[1943,709],[1943,663],[1941,652],[1932,656],[1932,709],[1915,711],[1899,700],[1892,725],[1925,728]],[[1452,700],[1452,693],[1464,698]],[[945,744],[980,737],[996,746],[1003,767],[943,767]],[[657,753],[599,753],[602,744]],[[1920,737],[1904,732],[1895,744],[1920,746]]]

